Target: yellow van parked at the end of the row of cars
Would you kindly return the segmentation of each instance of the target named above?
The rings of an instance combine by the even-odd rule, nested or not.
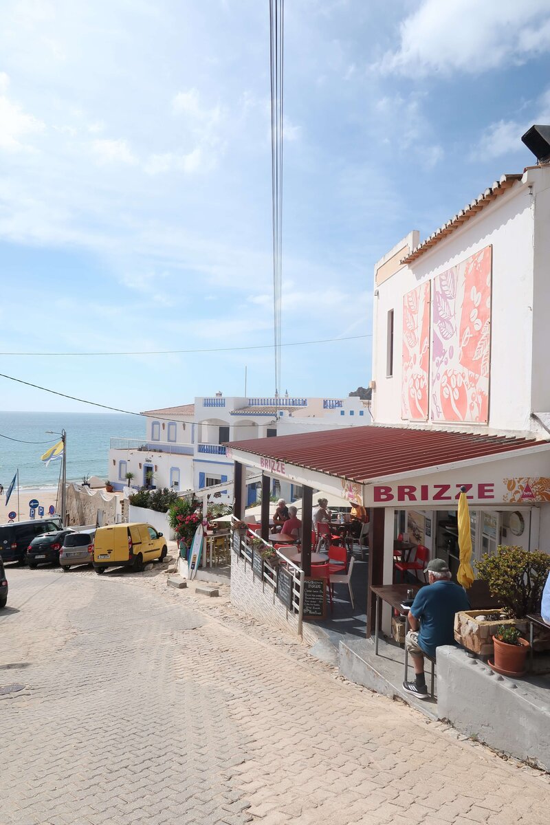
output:
[[[166,554],[166,539],[150,524],[113,524],[96,530],[93,549],[96,573],[104,573],[108,567],[143,570],[143,564],[154,559],[162,561]]]

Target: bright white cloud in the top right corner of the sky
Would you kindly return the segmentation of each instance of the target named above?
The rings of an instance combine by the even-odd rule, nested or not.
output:
[[[548,0],[423,0],[399,26],[400,44],[375,65],[420,77],[480,73],[550,50]]]

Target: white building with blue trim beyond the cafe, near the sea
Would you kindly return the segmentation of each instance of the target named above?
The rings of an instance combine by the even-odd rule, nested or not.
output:
[[[133,487],[167,487],[181,492],[201,490],[233,481],[233,460],[223,446],[227,441],[288,435],[292,432],[334,429],[369,423],[369,402],[360,398],[195,398],[181,407],[148,410],[143,440],[110,439],[109,480],[122,489],[127,473]],[[256,501],[256,482],[248,491]],[[273,495],[299,497],[296,485],[274,480]],[[231,501],[233,492],[217,494]]]

